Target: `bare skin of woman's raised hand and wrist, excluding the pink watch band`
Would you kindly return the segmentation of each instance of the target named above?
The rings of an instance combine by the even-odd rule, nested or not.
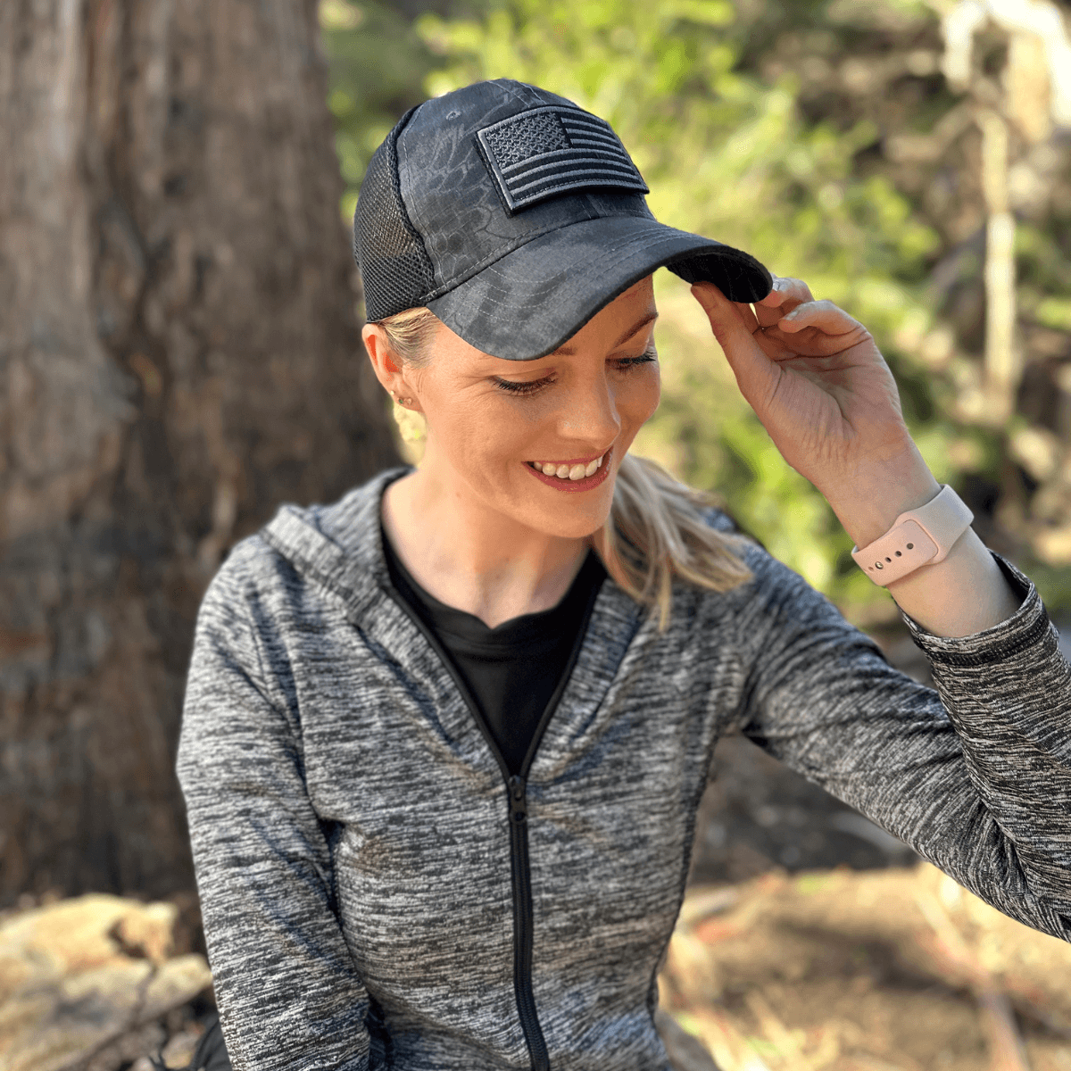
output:
[[[937,494],[904,424],[892,373],[861,323],[815,301],[796,278],[775,278],[754,312],[711,283],[696,284],[692,293],[770,438],[826,496],[857,546]],[[972,529],[944,561],[908,573],[889,591],[939,636],[980,632],[1019,608],[1019,595]]]

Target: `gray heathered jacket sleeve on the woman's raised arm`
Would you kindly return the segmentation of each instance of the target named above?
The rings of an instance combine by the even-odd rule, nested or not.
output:
[[[1034,585],[963,638],[904,615],[936,691],[763,552],[738,619],[743,733],[1006,915],[1071,939],[1071,669]]]

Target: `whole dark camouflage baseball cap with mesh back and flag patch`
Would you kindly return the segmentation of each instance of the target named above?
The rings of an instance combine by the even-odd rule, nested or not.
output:
[[[659,223],[649,192],[609,123],[556,93],[498,78],[425,101],[358,197],[367,319],[426,305],[477,349],[530,361],[662,266],[730,301],[769,293],[754,257]]]

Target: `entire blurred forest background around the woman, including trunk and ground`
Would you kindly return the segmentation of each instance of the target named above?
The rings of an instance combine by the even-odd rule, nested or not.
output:
[[[0,4],[0,1067],[177,1065],[211,1010],[172,772],[196,607],[281,501],[420,456],[346,228],[427,95],[574,100],[660,220],[862,320],[937,478],[1071,622],[1069,28],[1066,0]],[[655,285],[634,450],[926,679]],[[715,773],[662,1002],[723,1071],[1071,1071],[1066,946],[744,741]]]

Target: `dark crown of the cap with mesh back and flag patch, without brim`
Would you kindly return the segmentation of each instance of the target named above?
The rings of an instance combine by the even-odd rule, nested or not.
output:
[[[511,79],[408,111],[376,150],[353,217],[369,320],[428,301],[550,230],[652,218],[604,120]]]

